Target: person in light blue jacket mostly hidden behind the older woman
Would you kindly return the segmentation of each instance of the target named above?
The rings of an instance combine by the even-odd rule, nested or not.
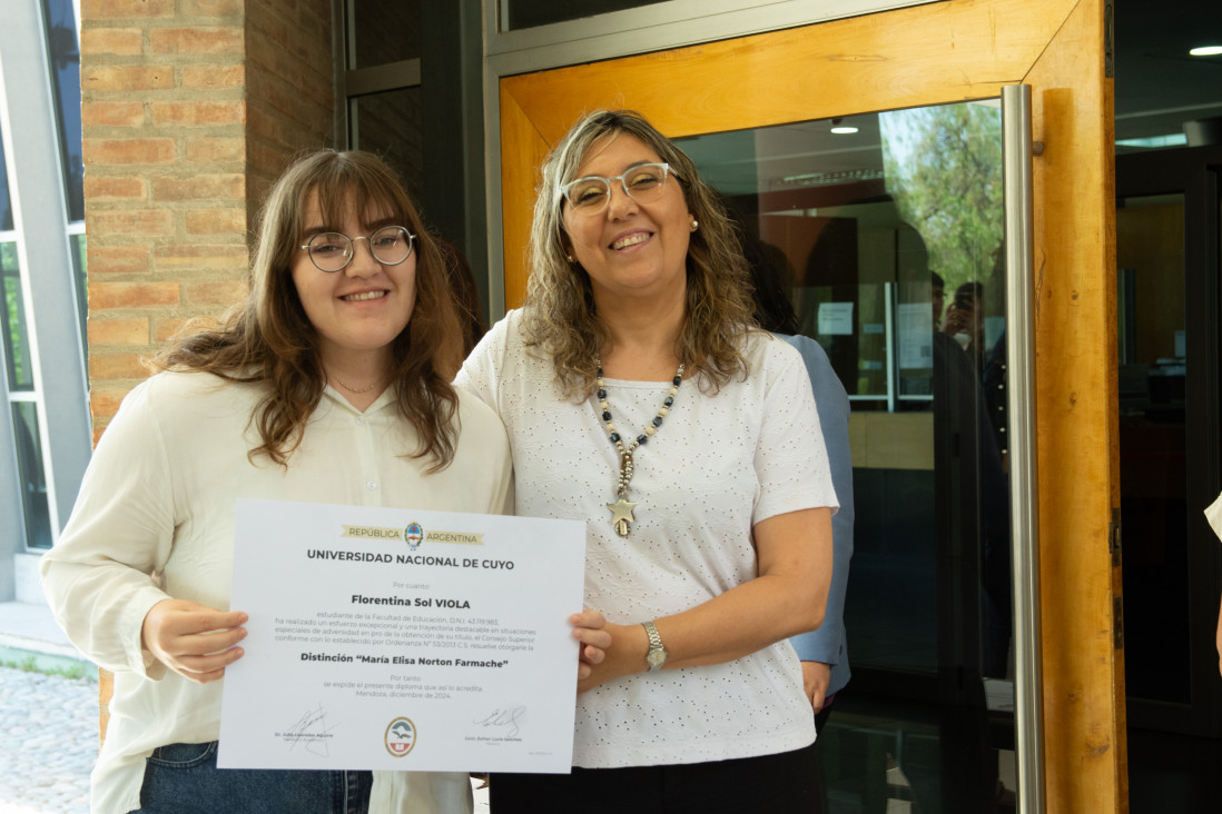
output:
[[[810,337],[798,334],[798,315],[786,293],[783,272],[770,260],[767,247],[744,229],[743,254],[752,272],[752,299],[755,321],[765,331],[778,334],[802,354],[810,376],[810,389],[819,411],[819,426],[827,445],[832,486],[840,510],[832,516],[832,581],[827,610],[819,630],[793,637],[802,659],[802,677],[815,711],[815,726],[821,732],[831,714],[832,699],[852,675],[844,635],[844,594],[848,589],[849,560],[853,558],[853,455],[848,445],[849,402],[844,384],[832,370],[822,347]],[[774,256],[776,253],[771,253]],[[783,255],[781,255],[783,258]],[[797,334],[797,336],[796,336]]]

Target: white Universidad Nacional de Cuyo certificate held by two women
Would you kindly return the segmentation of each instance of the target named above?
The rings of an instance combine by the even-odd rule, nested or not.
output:
[[[238,500],[224,769],[567,773],[585,524]]]

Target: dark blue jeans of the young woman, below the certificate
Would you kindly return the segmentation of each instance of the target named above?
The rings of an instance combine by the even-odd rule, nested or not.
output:
[[[368,771],[218,769],[216,741],[171,743],[144,766],[136,814],[367,814]]]

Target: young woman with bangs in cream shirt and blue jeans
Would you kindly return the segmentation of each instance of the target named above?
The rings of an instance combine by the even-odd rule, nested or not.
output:
[[[470,809],[461,774],[216,769],[247,621],[229,607],[238,497],[507,508],[501,422],[450,384],[459,334],[385,164],[324,150],[285,172],[244,305],[123,400],[43,559],[60,625],[115,672],[95,812],[364,812],[370,786],[378,812]]]

